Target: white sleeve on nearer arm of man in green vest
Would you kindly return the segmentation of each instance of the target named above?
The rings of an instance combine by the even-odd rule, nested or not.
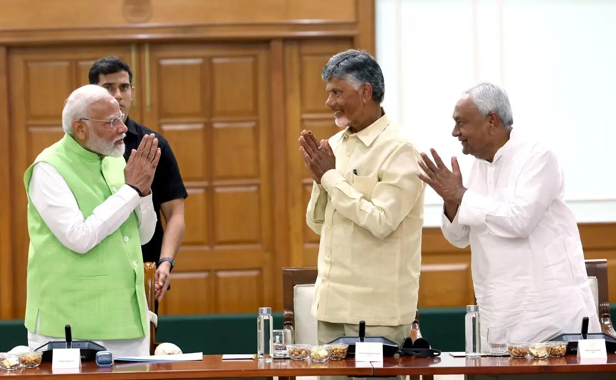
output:
[[[28,195],[55,237],[71,251],[87,253],[128,219],[139,194],[123,185],[84,218],[75,195],[60,173],[48,163],[33,168]]]

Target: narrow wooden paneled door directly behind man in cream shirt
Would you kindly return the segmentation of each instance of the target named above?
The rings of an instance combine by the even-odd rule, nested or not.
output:
[[[302,129],[313,131],[319,140],[340,131],[333,113],[325,106],[328,92],[321,71],[332,55],[352,47],[352,39],[285,42],[290,265],[294,267],[317,265],[319,240],[306,225],[313,180],[299,153],[298,138]]]

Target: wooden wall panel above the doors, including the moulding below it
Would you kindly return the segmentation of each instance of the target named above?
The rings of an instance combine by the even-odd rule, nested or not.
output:
[[[10,45],[314,36],[375,45],[374,0],[339,0],[335,12],[325,0],[106,0],[104,9],[95,0],[0,0],[0,9],[0,44]]]

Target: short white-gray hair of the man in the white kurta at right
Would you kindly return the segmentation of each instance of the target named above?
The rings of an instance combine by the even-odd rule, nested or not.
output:
[[[464,95],[468,95],[469,99],[479,108],[482,118],[485,118],[491,112],[496,113],[503,126],[511,131],[513,113],[505,90],[496,86],[496,84],[482,82],[464,91]]]

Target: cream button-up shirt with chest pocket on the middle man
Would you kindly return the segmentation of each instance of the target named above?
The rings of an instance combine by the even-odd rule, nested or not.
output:
[[[336,169],[314,183],[306,212],[321,235],[312,315],[332,323],[412,323],[424,209],[419,153],[387,115],[329,142]]]

